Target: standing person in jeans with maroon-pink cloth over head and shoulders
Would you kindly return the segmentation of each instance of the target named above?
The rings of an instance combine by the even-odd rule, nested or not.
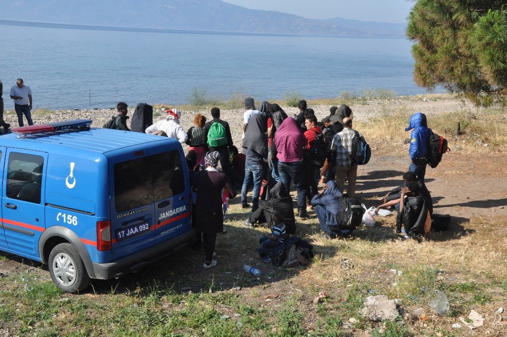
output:
[[[306,183],[304,181],[303,158],[307,140],[296,121],[287,117],[275,134],[278,174],[286,191],[291,190],[291,180],[298,192],[298,215],[306,218]]]

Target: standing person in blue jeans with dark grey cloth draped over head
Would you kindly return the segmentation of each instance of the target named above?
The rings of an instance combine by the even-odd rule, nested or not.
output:
[[[241,207],[249,208],[246,200],[248,186],[253,182],[252,211],[259,208],[259,195],[264,176],[264,165],[268,156],[267,117],[265,114],[255,114],[250,118],[243,139],[246,149],[245,179],[241,188]]]

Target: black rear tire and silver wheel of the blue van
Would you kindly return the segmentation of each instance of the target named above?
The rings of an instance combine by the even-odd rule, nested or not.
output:
[[[74,277],[69,277],[68,274],[62,275],[62,273],[55,274],[55,269],[59,268],[62,262],[66,262],[67,266],[65,268],[70,271],[70,274],[74,273]],[[55,246],[49,254],[48,266],[53,282],[65,292],[81,292],[90,285],[91,280],[86,272],[83,259],[72,244],[63,243]]]

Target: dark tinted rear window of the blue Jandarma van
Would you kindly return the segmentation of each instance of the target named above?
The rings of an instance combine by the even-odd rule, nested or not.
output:
[[[163,152],[115,164],[115,204],[121,213],[185,191],[178,151]]]

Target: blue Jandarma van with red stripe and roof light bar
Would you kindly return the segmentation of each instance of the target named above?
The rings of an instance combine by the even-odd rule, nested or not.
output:
[[[0,251],[48,264],[66,292],[195,240],[182,146],[91,120],[0,137]]]

